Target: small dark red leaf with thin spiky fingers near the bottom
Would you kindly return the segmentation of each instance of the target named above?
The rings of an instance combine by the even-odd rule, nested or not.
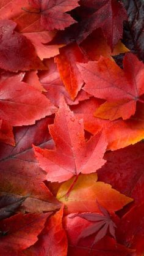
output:
[[[81,217],[92,222],[92,225],[82,230],[81,235],[78,237],[78,241],[81,238],[85,238],[87,236],[93,235],[97,232],[95,239],[93,241],[92,247],[99,240],[101,240],[104,236],[106,236],[107,231],[109,230],[110,235],[115,238],[115,228],[117,227],[115,223],[112,221],[110,214],[108,211],[98,203],[99,211],[103,214],[99,213],[79,213],[74,214],[73,217]],[[116,238],[115,238],[116,239]]]

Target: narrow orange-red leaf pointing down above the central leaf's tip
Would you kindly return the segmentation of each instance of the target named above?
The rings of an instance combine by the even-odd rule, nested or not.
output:
[[[60,49],[60,55],[56,56],[55,61],[63,84],[71,99],[74,100],[84,83],[76,62],[85,62],[85,56],[82,54],[81,48],[73,43]]]

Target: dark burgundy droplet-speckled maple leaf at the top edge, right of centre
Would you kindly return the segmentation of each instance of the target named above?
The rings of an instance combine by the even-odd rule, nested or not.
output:
[[[115,0],[82,0],[82,4],[92,7],[94,11],[86,21],[82,21],[78,41],[82,42],[90,32],[96,28],[101,28],[108,44],[113,48],[123,36],[123,21],[127,19],[123,5]]]

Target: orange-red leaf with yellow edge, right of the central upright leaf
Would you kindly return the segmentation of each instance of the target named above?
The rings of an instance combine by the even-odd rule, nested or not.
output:
[[[101,100],[91,98],[73,106],[72,110],[77,118],[84,119],[84,129],[88,132],[96,134],[103,129],[108,142],[107,149],[124,148],[144,138],[144,104],[137,102],[135,115],[126,121],[109,121],[95,118],[93,115],[101,103]]]

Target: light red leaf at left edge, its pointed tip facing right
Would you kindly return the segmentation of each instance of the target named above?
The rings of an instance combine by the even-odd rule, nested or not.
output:
[[[5,79],[0,84],[0,90],[0,116],[12,126],[34,124],[35,120],[57,110],[37,89],[15,77]]]

